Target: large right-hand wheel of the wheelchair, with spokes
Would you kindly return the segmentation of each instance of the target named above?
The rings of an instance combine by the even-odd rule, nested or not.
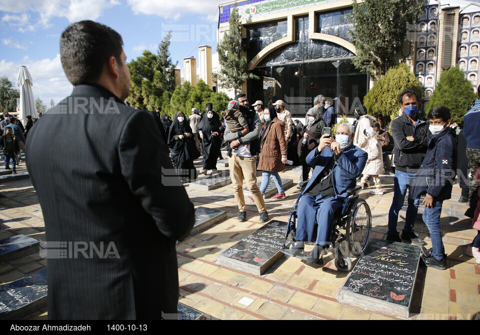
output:
[[[364,199],[357,198],[351,204],[345,230],[348,253],[358,256],[367,247],[371,233],[371,211]]]

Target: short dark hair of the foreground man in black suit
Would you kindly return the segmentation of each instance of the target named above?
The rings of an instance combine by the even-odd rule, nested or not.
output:
[[[112,28],[90,20],[70,24],[60,37],[60,59],[66,77],[76,86],[95,82],[110,56],[121,64],[123,40]]]

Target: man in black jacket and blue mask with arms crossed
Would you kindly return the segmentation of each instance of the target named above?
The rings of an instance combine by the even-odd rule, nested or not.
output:
[[[428,122],[418,113],[420,102],[413,89],[405,89],[398,95],[402,114],[391,121],[391,135],[394,142],[395,177],[393,179],[393,200],[388,213],[387,240],[401,242],[411,241],[414,244],[424,245],[425,242],[413,232],[418,199],[408,198],[405,226],[400,235],[396,230],[398,212],[403,206],[406,191],[415,173],[420,167],[428,145]]]

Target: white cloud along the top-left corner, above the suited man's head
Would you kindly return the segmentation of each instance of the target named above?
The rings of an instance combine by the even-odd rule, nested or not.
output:
[[[104,9],[117,4],[119,4],[117,0],[3,0],[0,3],[0,10],[20,13],[20,15],[5,14],[2,21],[24,32],[32,31],[37,26],[49,27],[50,19],[55,16],[66,17],[70,22],[83,19],[95,20]],[[39,18],[35,23],[30,21],[27,11],[38,13]]]

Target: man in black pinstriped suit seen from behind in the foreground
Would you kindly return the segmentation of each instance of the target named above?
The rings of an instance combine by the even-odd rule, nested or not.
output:
[[[176,312],[175,241],[191,230],[194,208],[177,177],[162,177],[173,167],[152,117],[123,102],[130,74],[122,44],[103,24],[69,25],[60,55],[73,91],[28,134],[51,319]],[[59,255],[50,252],[60,241]]]

